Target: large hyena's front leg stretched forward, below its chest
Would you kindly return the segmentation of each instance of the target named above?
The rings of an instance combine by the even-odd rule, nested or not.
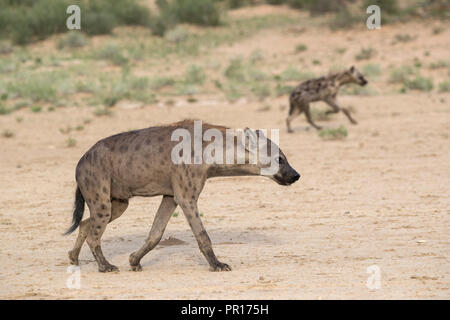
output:
[[[191,230],[195,235],[195,239],[197,240],[198,247],[210,265],[210,270],[230,271],[231,267],[226,263],[220,262],[214,254],[211,239],[209,238],[208,233],[206,233],[205,227],[200,220],[197,201],[183,199],[178,204],[183,209],[184,215],[186,216],[189,226],[191,227]]]

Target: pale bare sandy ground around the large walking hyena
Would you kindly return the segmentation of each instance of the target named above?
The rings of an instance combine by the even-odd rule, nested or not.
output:
[[[400,51],[384,40],[386,34],[355,34],[326,37],[312,30],[302,39],[321,59],[329,51],[320,51],[321,43],[337,47],[347,39],[343,65],[359,50],[352,43],[386,42]],[[294,37],[264,33],[217,51],[225,57],[263,46],[287,54],[295,47]],[[276,43],[262,45],[262,39]],[[423,40],[433,57],[448,53],[448,43]],[[407,46],[409,53],[417,51],[417,43]],[[414,56],[402,60],[379,52],[383,65]],[[274,64],[282,68],[280,56]],[[0,142],[0,298],[449,299],[450,94],[343,96],[341,103],[354,107],[359,124],[351,126],[342,114],[321,123],[344,124],[349,136],[342,141],[321,140],[303,117],[294,122],[296,132],[287,134],[286,99],[268,99],[263,104],[271,106],[268,110],[259,102],[230,104],[214,96],[170,108],[119,105],[112,117],[94,118],[76,132],[72,148],[59,130],[92,119],[91,108],[22,110],[0,117],[0,128],[15,133]],[[23,121],[16,122],[17,116]],[[291,187],[258,177],[207,182],[199,200],[202,219],[231,272],[208,271],[179,208],[164,234],[168,240],[142,260],[143,272],[129,271],[128,255],[143,244],[160,202],[160,197],[134,198],[103,236],[105,256],[120,273],[99,273],[84,246],[81,288],[67,288],[67,251],[76,234],[61,234],[71,220],[79,158],[105,136],[184,118],[232,128],[280,128],[281,148],[301,180]],[[381,272],[379,289],[366,286],[367,268],[374,265]]]

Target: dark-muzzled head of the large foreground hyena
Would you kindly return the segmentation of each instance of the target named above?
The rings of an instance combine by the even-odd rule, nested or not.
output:
[[[249,137],[249,147],[252,149],[249,153],[254,155],[257,150],[256,165],[261,175],[283,186],[289,186],[300,179],[300,174],[291,167],[283,151],[261,130],[246,129],[245,133]]]

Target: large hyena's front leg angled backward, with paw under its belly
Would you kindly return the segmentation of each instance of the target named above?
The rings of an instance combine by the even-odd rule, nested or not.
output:
[[[156,212],[155,220],[153,221],[150,234],[145,241],[145,244],[136,252],[130,255],[129,261],[131,270],[141,271],[142,267],[140,261],[143,256],[145,256],[150,250],[152,250],[161,240],[164,230],[166,229],[167,223],[170,220],[177,204],[173,197],[164,196],[159,209]]]

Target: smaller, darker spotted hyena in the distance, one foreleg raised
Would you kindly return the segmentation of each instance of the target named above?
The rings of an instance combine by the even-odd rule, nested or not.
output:
[[[348,70],[332,74],[328,77],[321,77],[302,82],[289,96],[289,116],[286,119],[288,132],[293,132],[291,122],[302,112],[305,113],[306,119],[314,128],[318,130],[321,129],[321,127],[317,126],[311,119],[309,110],[309,104],[316,101],[324,101],[333,108],[333,110],[327,111],[327,114],[338,113],[342,110],[350,122],[356,124],[357,122],[352,118],[350,112],[346,108],[339,107],[336,99],[339,88],[347,83],[356,83],[365,86],[367,80],[352,66]]]

